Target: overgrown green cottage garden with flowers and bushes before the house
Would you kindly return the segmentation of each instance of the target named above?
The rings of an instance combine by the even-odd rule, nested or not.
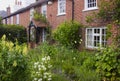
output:
[[[0,39],[0,81],[120,81],[120,36],[114,40],[117,46],[80,51],[83,27],[75,21],[64,22],[49,33],[48,41],[30,49],[24,28],[15,27],[12,32],[1,25],[0,31],[8,32]]]

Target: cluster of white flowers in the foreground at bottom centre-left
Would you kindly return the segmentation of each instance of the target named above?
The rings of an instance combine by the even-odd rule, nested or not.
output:
[[[41,62],[35,62],[33,71],[33,81],[51,81],[51,67],[52,65],[50,64],[50,56],[45,56],[44,58],[42,58]]]

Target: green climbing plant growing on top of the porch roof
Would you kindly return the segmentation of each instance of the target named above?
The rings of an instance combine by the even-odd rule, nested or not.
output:
[[[35,11],[34,12],[34,19],[36,21],[41,21],[43,23],[47,23],[47,19],[46,19],[46,16],[40,14],[39,12]]]

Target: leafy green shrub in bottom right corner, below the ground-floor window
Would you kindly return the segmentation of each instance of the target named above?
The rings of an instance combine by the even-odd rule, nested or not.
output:
[[[108,47],[96,54],[96,67],[108,81],[120,80],[120,50]]]

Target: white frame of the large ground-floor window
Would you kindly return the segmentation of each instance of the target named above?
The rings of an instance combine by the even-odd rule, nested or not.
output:
[[[95,33],[95,29],[99,29],[100,33]],[[104,32],[104,34],[103,34],[103,31],[102,31],[103,29],[106,30],[106,27],[86,28],[86,43],[85,43],[86,48],[94,49],[94,48],[103,48],[106,46],[106,44],[107,44],[106,32]],[[91,34],[88,34],[88,30],[92,30]],[[88,36],[90,36],[90,35],[91,35],[91,37],[90,37],[91,39],[88,39]],[[97,46],[95,46],[95,40],[94,40],[95,37],[99,37],[99,40],[98,40],[99,45],[97,45]],[[105,37],[104,41],[102,40],[103,37]],[[104,46],[102,46],[103,43],[104,43]]]

